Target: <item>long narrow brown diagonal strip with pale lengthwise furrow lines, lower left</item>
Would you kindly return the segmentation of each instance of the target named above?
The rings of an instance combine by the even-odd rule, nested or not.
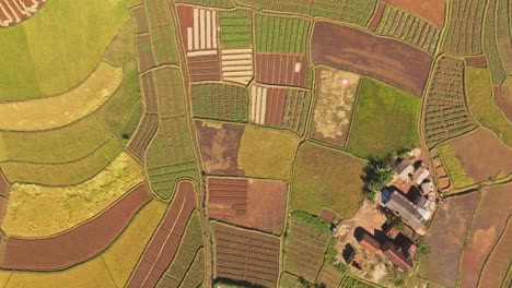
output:
[[[188,181],[179,182],[173,204],[171,204],[164,220],[142,255],[142,260],[135,269],[127,287],[156,287],[160,277],[162,277],[176,254],[182,236],[196,205],[197,197],[194,184]]]

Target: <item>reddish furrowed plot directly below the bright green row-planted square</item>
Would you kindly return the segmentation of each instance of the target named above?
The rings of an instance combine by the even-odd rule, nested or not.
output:
[[[304,55],[257,53],[256,81],[306,87],[307,61]]]

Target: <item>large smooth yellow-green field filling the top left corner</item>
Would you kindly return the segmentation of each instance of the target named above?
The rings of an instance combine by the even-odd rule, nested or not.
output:
[[[79,85],[129,16],[121,0],[56,0],[30,21],[2,29],[0,55],[9,57],[0,63],[0,100],[40,98]]]

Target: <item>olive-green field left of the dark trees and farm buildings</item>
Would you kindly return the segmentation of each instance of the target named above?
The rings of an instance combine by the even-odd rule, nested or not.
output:
[[[365,163],[347,153],[304,143],[299,147],[290,208],[317,214],[324,205],[352,217],[362,203]]]

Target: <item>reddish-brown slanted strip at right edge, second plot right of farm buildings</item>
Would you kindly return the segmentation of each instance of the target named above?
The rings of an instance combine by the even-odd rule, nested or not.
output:
[[[462,287],[477,287],[484,263],[512,213],[511,191],[512,183],[486,187],[481,191],[481,200],[461,262]]]

